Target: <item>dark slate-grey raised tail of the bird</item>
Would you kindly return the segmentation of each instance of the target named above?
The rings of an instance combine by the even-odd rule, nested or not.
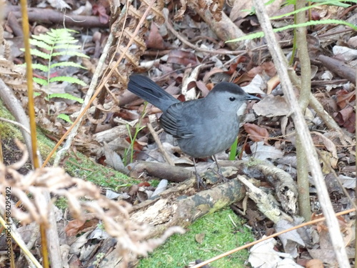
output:
[[[166,111],[169,106],[179,102],[174,96],[161,89],[154,81],[146,76],[134,74],[129,77],[128,89],[141,99],[149,101],[154,106]]]

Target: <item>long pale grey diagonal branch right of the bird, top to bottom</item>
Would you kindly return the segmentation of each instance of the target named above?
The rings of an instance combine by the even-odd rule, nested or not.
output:
[[[296,132],[298,137],[305,145],[303,149],[306,156],[309,157],[308,164],[310,166],[313,180],[316,184],[316,189],[318,190],[318,199],[320,201],[323,214],[326,217],[326,224],[328,226],[328,232],[330,233],[331,242],[336,254],[336,259],[338,261],[339,267],[349,267],[350,263],[348,261],[346,248],[343,243],[341,232],[338,232],[340,227],[338,225],[335,213],[333,212],[331,199],[329,199],[328,191],[326,189],[326,184],[321,171],[321,166],[318,161],[318,154],[316,153],[316,149],[313,146],[313,141],[308,131],[308,126],[306,125],[306,121],[303,117],[303,114],[301,113],[296,96],[293,93],[293,84],[291,83],[291,80],[288,76],[286,58],[282,54],[281,49],[279,49],[278,42],[276,41],[275,34],[273,33],[273,27],[271,26],[268,14],[266,14],[266,9],[263,2],[259,0],[253,0],[253,3],[256,7],[256,14],[264,31],[269,51],[271,52],[271,56],[273,57],[273,61],[276,65],[278,75],[280,76],[281,87],[283,89],[284,96],[286,96],[288,104],[290,104],[293,111],[293,122],[296,127]]]

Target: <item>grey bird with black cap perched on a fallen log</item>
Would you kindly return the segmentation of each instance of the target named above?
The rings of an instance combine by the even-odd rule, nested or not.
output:
[[[246,100],[260,99],[246,94],[236,84],[221,82],[205,98],[181,102],[148,77],[138,74],[130,76],[128,89],[163,111],[159,124],[177,139],[182,152],[193,158],[213,156],[220,179],[225,178],[214,154],[228,149],[236,140]],[[194,167],[198,187],[204,186],[196,164]]]

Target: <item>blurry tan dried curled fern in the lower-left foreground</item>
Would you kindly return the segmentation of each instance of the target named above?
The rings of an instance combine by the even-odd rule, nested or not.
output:
[[[24,159],[21,162],[24,163]],[[95,184],[70,177],[64,169],[58,167],[36,169],[26,175],[16,171],[19,167],[19,163],[11,167],[0,163],[0,192],[11,189],[11,199],[16,198],[22,202],[24,209],[11,205],[11,218],[18,219],[21,224],[49,224],[50,204],[44,201],[43,194],[48,191],[55,197],[66,197],[74,218],[84,219],[86,214],[93,213],[100,219],[106,232],[117,239],[117,248],[124,261],[128,260],[129,252],[134,257],[146,256],[175,232],[183,233],[182,228],[174,227],[159,239],[146,240],[151,228],[148,224],[129,219],[131,204],[107,199]],[[6,209],[3,195],[0,196],[0,207]]]

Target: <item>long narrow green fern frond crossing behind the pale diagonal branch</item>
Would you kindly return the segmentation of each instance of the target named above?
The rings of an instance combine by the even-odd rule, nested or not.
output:
[[[292,29],[292,28],[306,27],[306,26],[313,26],[313,25],[320,25],[320,24],[342,24],[342,25],[346,25],[348,27],[351,27],[352,29],[357,31],[357,26],[356,25],[350,24],[350,23],[348,23],[346,21],[341,21],[339,19],[326,19],[326,20],[323,20],[323,21],[306,21],[303,24],[287,25],[287,26],[283,26],[281,28],[273,29],[273,31],[274,32],[279,32],[279,31],[285,31],[287,29]],[[260,38],[260,37],[263,37],[263,36],[264,36],[263,31],[258,31],[258,32],[254,33],[254,34],[248,34],[246,36],[242,36],[242,37],[239,37],[237,39],[228,40],[228,41],[226,41],[226,43],[242,41],[242,40],[246,40],[246,39],[256,39],[256,38]]]

